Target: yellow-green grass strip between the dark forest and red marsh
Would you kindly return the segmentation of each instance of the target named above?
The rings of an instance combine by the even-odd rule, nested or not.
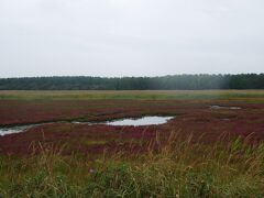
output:
[[[0,100],[233,100],[264,102],[264,90],[0,91]]]

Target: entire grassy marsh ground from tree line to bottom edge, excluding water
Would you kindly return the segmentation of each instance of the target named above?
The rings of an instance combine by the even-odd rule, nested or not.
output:
[[[143,116],[174,118],[86,123]],[[0,136],[0,197],[264,195],[263,90],[0,91],[0,127],[29,123]]]

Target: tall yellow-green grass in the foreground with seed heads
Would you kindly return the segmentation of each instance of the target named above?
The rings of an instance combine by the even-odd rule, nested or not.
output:
[[[0,197],[263,197],[264,144],[248,140],[191,143],[158,139],[144,154],[40,155],[0,158]]]

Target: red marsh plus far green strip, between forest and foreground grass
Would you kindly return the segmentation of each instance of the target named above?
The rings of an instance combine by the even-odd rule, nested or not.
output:
[[[134,144],[143,148],[156,132],[172,131],[210,143],[222,134],[264,139],[264,91],[2,91],[0,125],[45,123],[0,136],[0,153],[31,153],[33,142],[67,144],[68,152],[101,152]],[[212,108],[212,107],[223,108]],[[110,127],[59,121],[106,121],[142,116],[175,116],[166,124]],[[202,138],[201,138],[202,136]],[[139,141],[141,140],[141,141]],[[92,143],[91,143],[92,142]],[[98,143],[97,143],[98,142]],[[132,142],[132,143],[131,143]]]

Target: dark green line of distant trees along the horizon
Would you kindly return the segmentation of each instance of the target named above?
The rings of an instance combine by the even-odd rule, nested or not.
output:
[[[0,78],[0,90],[264,89],[264,74]]]

